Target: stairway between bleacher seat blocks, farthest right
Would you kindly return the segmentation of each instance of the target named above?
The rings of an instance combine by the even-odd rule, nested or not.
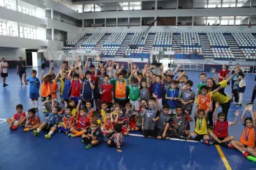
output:
[[[223,36],[225,37],[227,45],[230,47],[230,50],[232,51],[234,57],[236,59],[244,58],[243,53],[236,44],[236,40],[233,38],[233,35],[231,33],[223,33]]]

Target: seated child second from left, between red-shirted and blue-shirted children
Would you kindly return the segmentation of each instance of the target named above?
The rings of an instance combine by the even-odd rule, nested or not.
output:
[[[23,129],[24,132],[37,129],[40,125],[39,117],[36,115],[36,109],[29,109],[28,113],[29,117],[26,121],[25,128]]]

